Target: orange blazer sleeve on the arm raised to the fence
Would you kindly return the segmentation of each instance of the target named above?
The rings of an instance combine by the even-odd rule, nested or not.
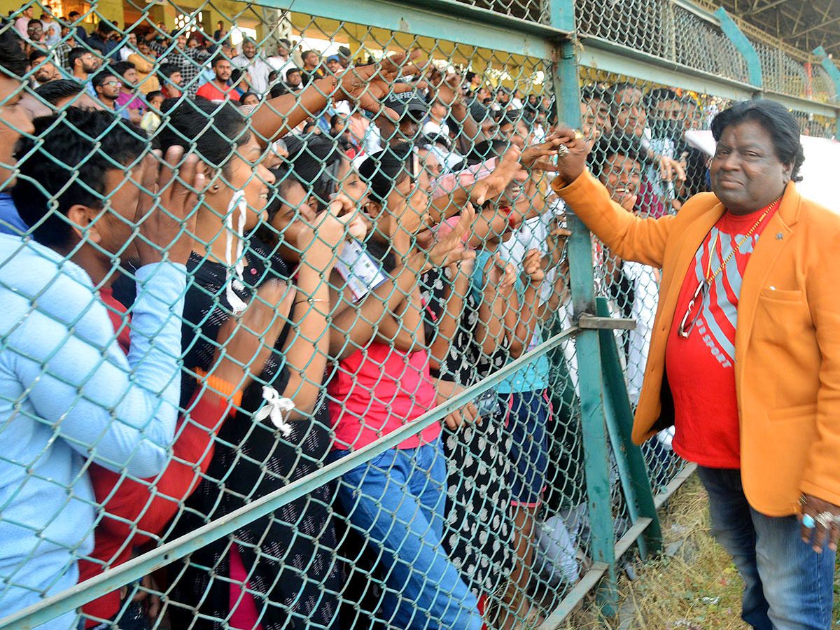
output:
[[[569,184],[555,179],[551,187],[604,244],[624,260],[662,267],[665,244],[675,217],[638,218],[613,202],[588,170]]]

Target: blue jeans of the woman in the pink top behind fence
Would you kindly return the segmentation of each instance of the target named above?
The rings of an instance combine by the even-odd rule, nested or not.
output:
[[[330,459],[347,451],[333,451]],[[381,559],[386,627],[481,630],[475,596],[443,548],[446,459],[440,443],[390,449],[345,473],[339,501]]]

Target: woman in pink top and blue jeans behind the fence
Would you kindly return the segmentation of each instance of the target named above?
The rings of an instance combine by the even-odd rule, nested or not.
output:
[[[330,343],[339,359],[328,384],[333,461],[441,402],[429,374],[420,275],[471,255],[462,238],[475,217],[468,204],[449,235],[417,253],[412,237],[425,227],[429,202],[428,176],[417,154],[407,144],[391,146],[365,160],[360,177],[370,186],[374,220],[362,255],[373,269],[364,301],[333,317],[337,330],[348,331]],[[462,411],[475,417],[471,404]],[[478,602],[443,549],[447,471],[440,433],[433,423],[345,473],[339,484],[350,525],[365,534],[381,562],[385,589],[378,617],[386,627],[482,627]]]

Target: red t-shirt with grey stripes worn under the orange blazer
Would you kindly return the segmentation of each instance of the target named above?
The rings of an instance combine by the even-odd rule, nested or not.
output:
[[[741,467],[738,396],[733,367],[738,296],[749,256],[778,207],[777,202],[748,237],[749,229],[766,208],[741,216],[724,214],[697,250],[694,265],[690,266],[680,290],[665,349],[665,370],[675,408],[672,446],[676,454],[701,466]],[[697,309],[702,310],[688,339],[680,337],[685,311],[709,268],[711,245],[714,244],[711,253],[711,272],[714,273],[738,243],[741,246],[727,262],[726,269],[720,270],[711,281],[709,295],[702,307],[699,299],[695,302],[688,322]]]

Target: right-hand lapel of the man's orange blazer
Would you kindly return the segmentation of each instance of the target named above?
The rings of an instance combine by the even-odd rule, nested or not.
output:
[[[762,230],[759,241],[749,256],[747,269],[743,272],[741,294],[738,296],[738,327],[735,329],[736,381],[740,365],[743,365],[743,354],[747,351],[749,338],[753,333],[759,291],[764,284],[764,278],[790,240],[790,234],[793,232],[790,225],[796,223],[799,216],[800,201],[801,196],[791,181],[785,188],[785,197],[782,197],[779,211],[770,217],[769,223]]]

